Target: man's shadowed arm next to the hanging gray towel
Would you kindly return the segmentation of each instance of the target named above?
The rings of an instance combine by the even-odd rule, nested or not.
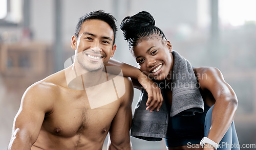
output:
[[[132,124],[133,85],[129,79],[125,81],[125,94],[122,104],[111,123],[109,132],[109,149],[132,149],[130,128]]]

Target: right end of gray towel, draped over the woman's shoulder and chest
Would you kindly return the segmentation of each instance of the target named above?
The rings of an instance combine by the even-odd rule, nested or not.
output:
[[[195,115],[204,111],[204,101],[199,91],[195,73],[190,63],[176,51],[172,52],[174,67],[172,74],[173,102],[170,116]]]

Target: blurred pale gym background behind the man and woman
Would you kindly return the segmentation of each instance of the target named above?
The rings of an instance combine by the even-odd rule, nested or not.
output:
[[[63,69],[74,54],[79,17],[95,10],[113,14],[118,28],[125,16],[148,11],[193,66],[219,68],[239,99],[234,121],[247,146],[241,149],[256,149],[255,6],[254,0],[0,0],[0,149],[7,148],[25,90]],[[114,59],[137,66],[120,28],[116,44]],[[133,109],[139,94],[135,89]],[[165,149],[164,141],[131,140],[134,149]]]

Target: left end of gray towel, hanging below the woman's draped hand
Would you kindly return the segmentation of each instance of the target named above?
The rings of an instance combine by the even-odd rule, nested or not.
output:
[[[142,89],[134,111],[131,136],[147,141],[161,141],[166,137],[168,127],[168,104],[164,101],[159,112],[150,112],[146,110],[146,101],[147,92]]]

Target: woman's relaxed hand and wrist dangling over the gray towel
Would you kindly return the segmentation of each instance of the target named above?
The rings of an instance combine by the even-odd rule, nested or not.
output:
[[[137,79],[141,86],[147,92],[148,99],[146,102],[146,110],[150,110],[150,112],[152,112],[157,108],[157,111],[159,111],[163,104],[163,96],[161,93],[161,89],[154,81],[152,81],[150,78],[146,76],[146,74],[142,72],[139,74]]]

